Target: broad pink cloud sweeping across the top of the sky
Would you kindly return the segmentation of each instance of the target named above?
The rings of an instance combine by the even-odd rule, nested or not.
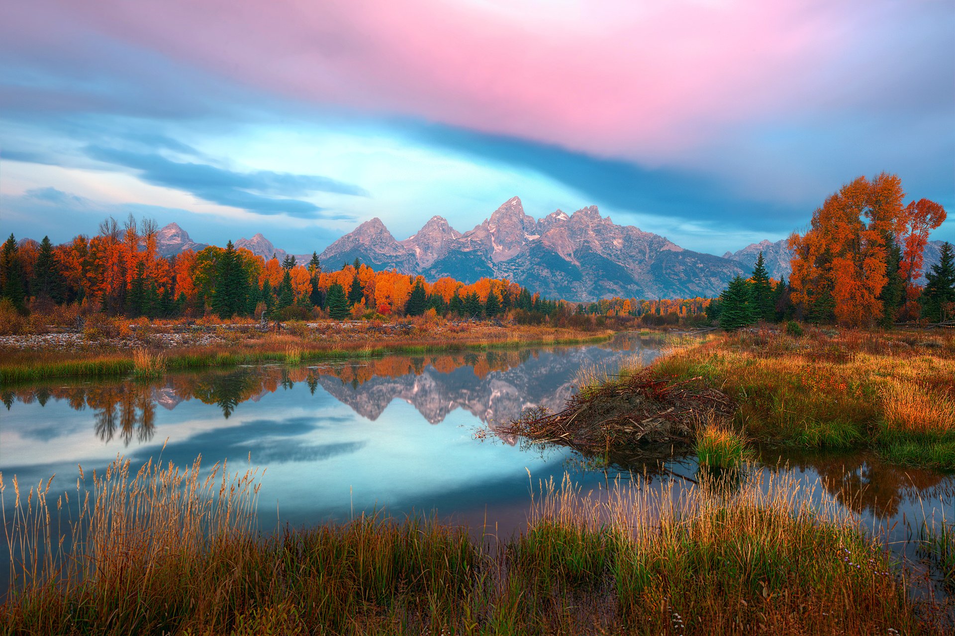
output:
[[[21,17],[297,99],[655,162],[796,108],[803,75],[854,42],[852,12],[832,6],[64,0]]]

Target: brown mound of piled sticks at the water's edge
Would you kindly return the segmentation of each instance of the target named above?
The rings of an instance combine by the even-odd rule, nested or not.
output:
[[[690,442],[708,421],[728,420],[735,403],[702,379],[653,380],[646,373],[584,387],[560,413],[534,407],[499,433],[568,446],[584,455]]]

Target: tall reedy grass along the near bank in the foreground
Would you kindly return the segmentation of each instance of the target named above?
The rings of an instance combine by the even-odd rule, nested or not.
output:
[[[47,502],[43,483],[42,496],[17,491],[11,556],[20,578],[0,606],[0,634],[942,634],[950,626],[950,608],[906,594],[906,575],[863,538],[858,519],[786,479],[703,479],[656,494],[626,481],[586,494],[568,482],[533,484],[525,531],[476,538],[385,515],[260,535],[257,471],[199,475],[198,462],[188,471],[151,463],[134,476],[117,461],[89,500],[82,480],[66,503]],[[48,512],[53,525],[42,523]],[[61,561],[55,520],[71,514],[72,558]]]

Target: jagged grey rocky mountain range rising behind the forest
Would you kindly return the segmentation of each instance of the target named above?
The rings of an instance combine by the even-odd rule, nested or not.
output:
[[[286,251],[265,236],[240,238],[236,247],[280,260]],[[159,253],[172,256],[199,250],[176,223],[159,231]],[[942,241],[925,248],[927,269],[938,261]],[[319,258],[327,268],[358,258],[375,269],[396,269],[434,280],[454,277],[474,282],[480,277],[506,277],[544,297],[592,301],[602,297],[713,297],[732,277],[749,276],[759,252],[771,277],[789,277],[791,252],[786,240],[763,240],[737,252],[713,256],[693,252],[668,238],[617,225],[596,206],[568,215],[561,210],[535,219],[526,215],[520,198],[507,200],[489,218],[467,232],[432,216],[413,236],[394,238],[381,219],[365,221],[341,236]],[[294,255],[307,262],[311,255]]]

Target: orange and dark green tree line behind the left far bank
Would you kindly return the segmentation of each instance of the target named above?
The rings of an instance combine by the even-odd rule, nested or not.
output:
[[[108,218],[93,237],[53,245],[13,235],[0,250],[0,291],[17,311],[44,312],[53,305],[85,303],[111,316],[220,318],[262,316],[372,318],[435,315],[522,321],[569,314],[566,303],[532,294],[507,279],[464,284],[450,277],[429,282],[394,270],[374,271],[359,262],[323,267],[295,256],[279,261],[256,256],[229,241],[160,256],[157,224],[132,215],[120,226]]]

